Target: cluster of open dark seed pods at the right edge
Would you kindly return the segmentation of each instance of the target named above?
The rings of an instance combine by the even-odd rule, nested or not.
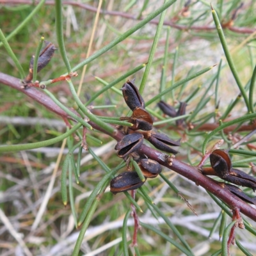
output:
[[[244,186],[247,188],[256,189],[256,179],[247,173],[232,168],[232,161],[228,154],[228,150],[216,149],[210,155],[210,162],[213,169],[211,175],[217,175],[223,180],[227,180],[233,184]],[[207,171],[207,170],[206,170]],[[208,170],[208,172],[211,170]],[[207,173],[207,172],[206,172]],[[220,182],[223,188],[228,189],[231,193],[238,196],[245,202],[256,205],[256,197],[246,195],[241,189],[232,184]]]

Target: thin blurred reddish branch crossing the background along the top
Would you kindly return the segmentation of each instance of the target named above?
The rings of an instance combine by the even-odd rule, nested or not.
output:
[[[0,0],[1,4],[33,4],[33,1],[31,0]],[[54,1],[45,1],[45,4],[49,4],[49,5],[53,5]],[[76,3],[74,1],[63,1],[62,4],[65,5],[72,5],[72,6],[76,6],[79,8],[83,8],[85,10],[88,10],[90,12],[97,12],[97,8],[93,7],[89,4],[83,4],[83,3]],[[132,15],[129,13],[125,13],[125,12],[117,12],[117,11],[109,11],[109,10],[100,10],[101,14],[104,15],[111,15],[111,16],[118,16],[118,17],[123,17],[125,19],[132,19],[132,20],[142,20],[143,17],[140,17],[138,19],[138,17],[136,17],[136,15]],[[158,24],[158,20],[151,20],[150,23],[151,24]],[[196,30],[196,31],[211,31],[216,29],[214,26],[186,26],[186,25],[180,25],[177,24],[173,21],[164,21],[164,25],[165,26],[170,26],[172,28],[176,28],[179,30]],[[251,34],[253,32],[255,32],[255,29],[253,28],[237,28],[234,26],[225,26],[225,29],[229,29],[230,31],[234,31],[236,33],[241,33],[241,34]]]

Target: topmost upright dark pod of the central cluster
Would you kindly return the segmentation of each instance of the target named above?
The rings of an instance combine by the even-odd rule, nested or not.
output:
[[[134,80],[132,81],[127,81],[122,89],[123,95],[124,95],[124,100],[127,104],[127,106],[134,111],[136,108],[145,108],[145,102],[143,98],[140,95],[140,92],[136,85],[134,84]]]

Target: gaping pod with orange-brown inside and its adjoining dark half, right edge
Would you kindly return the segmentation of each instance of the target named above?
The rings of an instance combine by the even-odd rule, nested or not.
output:
[[[232,163],[227,150],[216,149],[210,155],[211,166],[216,175],[233,184],[256,189],[256,179],[247,173],[232,168]]]

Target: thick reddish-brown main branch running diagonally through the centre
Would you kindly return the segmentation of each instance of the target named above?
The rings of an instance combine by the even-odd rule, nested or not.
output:
[[[0,72],[0,83],[3,83],[7,86],[11,86],[15,90],[19,90],[20,92],[28,95],[33,100],[36,100],[38,103],[45,106],[45,108],[49,109],[50,111],[60,115],[61,117],[70,118],[62,109],[60,109],[47,95],[44,94],[42,90],[37,90],[36,88],[29,88],[28,90],[24,90],[20,88],[19,79],[8,76]],[[106,131],[102,130],[101,127],[90,122],[90,125],[94,129],[104,132],[108,134]],[[124,137],[122,132],[117,131],[116,134],[109,134],[115,140],[119,141]],[[163,152],[159,152],[154,150],[153,148],[147,147],[146,145],[142,145],[140,148],[140,152],[148,156],[148,158],[157,161],[158,163],[166,166],[170,170],[179,173],[180,175],[186,177],[189,180],[195,182],[197,186],[202,186],[207,191],[211,192],[213,195],[217,196],[225,202],[230,209],[240,209],[240,211],[251,218],[252,220],[256,221],[256,209],[251,207],[250,205],[246,204],[243,200],[239,199],[237,196],[233,195],[227,189],[221,188],[214,180],[209,177],[204,176],[202,173],[198,171],[198,169],[194,166],[189,166],[186,163],[182,163],[176,159],[170,159],[170,156],[164,154]],[[170,161],[172,160],[172,161]]]

